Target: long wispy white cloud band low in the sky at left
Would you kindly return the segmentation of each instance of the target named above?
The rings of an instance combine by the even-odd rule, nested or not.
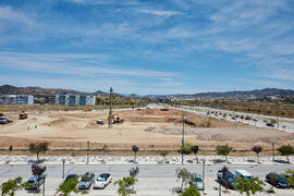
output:
[[[71,74],[79,76],[174,76],[172,72],[155,70],[123,69],[110,65],[105,54],[42,54],[0,52],[0,68],[40,73]],[[95,65],[94,65],[95,64]]]

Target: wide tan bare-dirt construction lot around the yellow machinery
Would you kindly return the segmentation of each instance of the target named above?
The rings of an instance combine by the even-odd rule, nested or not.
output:
[[[115,112],[114,112],[115,113]],[[185,115],[185,142],[197,144],[201,149],[215,149],[229,144],[235,149],[250,149],[255,144],[271,147],[271,143],[294,143],[294,134],[273,128],[259,128],[240,123],[216,120],[177,110],[160,109],[130,110],[119,112],[122,124],[96,124],[107,120],[108,111],[29,113],[28,119],[19,120],[16,114],[7,114],[13,123],[0,124],[0,148],[26,148],[33,140],[47,140],[52,149],[85,149],[87,140],[91,148],[176,150],[182,140]]]

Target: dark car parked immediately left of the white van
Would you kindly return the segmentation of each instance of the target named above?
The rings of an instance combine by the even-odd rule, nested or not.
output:
[[[226,167],[223,167],[218,171],[218,181],[224,187],[235,189],[236,176],[231,171],[229,171]]]

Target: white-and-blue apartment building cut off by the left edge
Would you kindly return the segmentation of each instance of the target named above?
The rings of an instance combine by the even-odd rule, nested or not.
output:
[[[0,105],[34,105],[34,96],[32,95],[2,95],[0,96]]]

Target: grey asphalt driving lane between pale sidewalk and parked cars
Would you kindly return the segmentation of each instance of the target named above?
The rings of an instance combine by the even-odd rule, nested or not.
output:
[[[186,168],[189,172],[203,174],[203,166],[138,166],[138,177],[174,177],[177,168]],[[230,170],[245,169],[253,175],[264,179],[269,172],[282,173],[287,169],[294,170],[293,164],[283,166],[228,166]],[[132,166],[66,166],[64,167],[65,175],[69,173],[83,174],[87,171],[99,174],[101,172],[111,173],[114,177],[128,175]],[[217,176],[221,166],[205,166],[205,176]],[[29,177],[32,174],[30,166],[0,166],[0,179],[13,179],[22,176]],[[47,166],[48,177],[62,177],[62,166]]]

